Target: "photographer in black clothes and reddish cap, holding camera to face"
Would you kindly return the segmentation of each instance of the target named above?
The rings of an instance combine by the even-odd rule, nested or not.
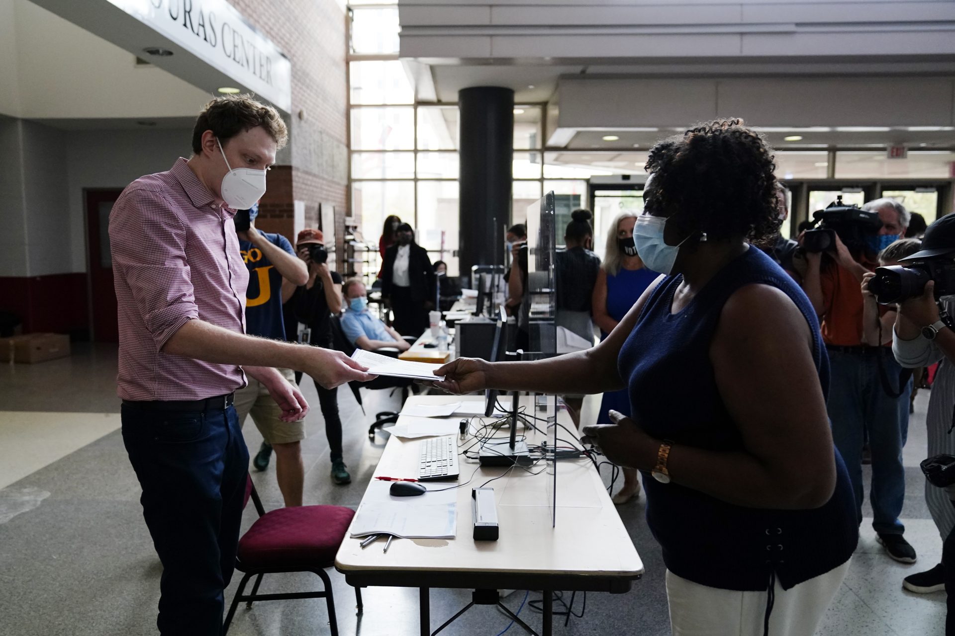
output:
[[[329,269],[329,253],[321,230],[306,228],[295,241],[299,258],[308,265],[308,280],[304,285],[283,287],[295,318],[308,327],[308,344],[332,349],[331,315],[342,311],[342,277]],[[342,451],[342,420],[338,415],[338,389],[323,388],[317,382],[318,403],[325,419],[325,436],[329,441],[331,481],[337,484],[351,482]]]

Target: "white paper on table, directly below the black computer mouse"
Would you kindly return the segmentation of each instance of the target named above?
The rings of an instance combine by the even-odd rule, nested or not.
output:
[[[454,491],[450,491],[454,492]],[[404,499],[423,499],[429,495]],[[454,539],[456,503],[362,503],[351,523],[352,537],[391,534],[402,539]]]

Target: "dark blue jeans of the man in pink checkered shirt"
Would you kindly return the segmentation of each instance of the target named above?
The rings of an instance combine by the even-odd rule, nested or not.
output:
[[[217,636],[248,474],[235,408],[170,412],[123,404],[122,438],[162,562],[159,633]]]

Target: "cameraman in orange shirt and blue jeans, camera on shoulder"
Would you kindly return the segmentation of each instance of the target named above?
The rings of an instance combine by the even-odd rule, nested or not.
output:
[[[890,557],[915,563],[916,552],[902,536],[905,498],[902,446],[908,434],[909,377],[885,346],[863,341],[864,303],[860,285],[876,267],[877,255],[908,225],[908,212],[892,199],[861,209],[841,197],[814,215],[821,227],[799,236],[805,267],[802,288],[821,318],[822,339],[831,362],[827,411],[833,438],[845,460],[862,523],[862,446],[872,450],[870,501],[873,528]]]

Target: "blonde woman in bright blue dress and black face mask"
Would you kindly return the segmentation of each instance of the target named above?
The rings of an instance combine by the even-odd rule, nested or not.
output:
[[[592,300],[594,322],[600,327],[601,340],[624,319],[637,300],[660,276],[644,266],[633,242],[633,226],[637,213],[624,211],[613,219],[606,235],[606,254],[597,276]],[[597,423],[610,421],[609,412],[617,411],[630,417],[630,397],[626,389],[607,391],[601,401]],[[640,493],[636,468],[624,468],[624,486],[613,496],[613,503],[626,503]]]

